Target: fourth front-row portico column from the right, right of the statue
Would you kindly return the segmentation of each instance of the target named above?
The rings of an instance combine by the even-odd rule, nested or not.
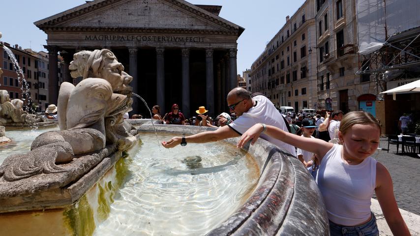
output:
[[[156,48],[156,105],[160,106],[162,114],[165,108],[165,48]]]

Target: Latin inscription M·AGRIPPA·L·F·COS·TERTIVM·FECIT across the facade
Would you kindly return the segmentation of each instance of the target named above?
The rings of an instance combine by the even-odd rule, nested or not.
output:
[[[156,35],[85,35],[90,41],[138,41],[138,42],[204,42],[204,37],[156,36]]]

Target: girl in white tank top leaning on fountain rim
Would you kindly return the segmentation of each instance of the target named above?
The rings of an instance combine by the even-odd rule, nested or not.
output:
[[[320,161],[316,182],[330,219],[331,235],[345,235],[357,229],[364,235],[378,235],[370,211],[376,193],[385,219],[394,235],[410,235],[395,202],[388,170],[371,155],[379,146],[378,121],[366,112],[350,112],[341,120],[341,145],[320,139],[307,139],[270,125],[256,124],[242,134],[238,147],[249,140],[254,144],[261,132],[273,138],[316,153]]]

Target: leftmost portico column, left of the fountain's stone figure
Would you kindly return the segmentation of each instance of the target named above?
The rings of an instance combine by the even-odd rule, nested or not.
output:
[[[48,50],[48,103],[57,105],[59,97],[59,80],[58,80],[58,51],[59,48],[53,45],[44,45]]]

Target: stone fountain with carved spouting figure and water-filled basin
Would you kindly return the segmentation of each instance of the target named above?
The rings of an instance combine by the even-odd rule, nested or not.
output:
[[[83,80],[61,85],[60,130],[0,165],[4,234],[328,234],[316,183],[287,152],[261,139],[239,150],[238,138],[161,150],[154,128],[212,128],[123,120],[132,78],[109,50],[76,53],[69,69]]]

